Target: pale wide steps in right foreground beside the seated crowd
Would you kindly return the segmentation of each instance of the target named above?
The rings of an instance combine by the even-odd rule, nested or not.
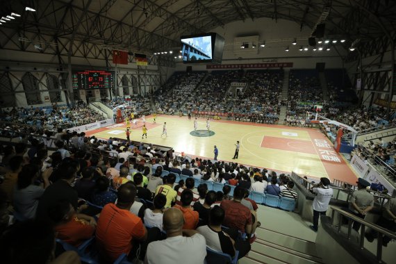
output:
[[[280,263],[322,263],[317,255],[316,233],[300,215],[277,208],[258,206],[258,220],[261,227],[256,229],[256,241],[251,251],[240,264],[280,264]]]

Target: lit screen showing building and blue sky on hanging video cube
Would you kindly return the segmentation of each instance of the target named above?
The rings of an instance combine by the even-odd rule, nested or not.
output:
[[[183,61],[212,60],[212,36],[181,38]]]

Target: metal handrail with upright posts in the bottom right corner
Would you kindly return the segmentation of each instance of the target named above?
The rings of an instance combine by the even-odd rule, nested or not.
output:
[[[370,227],[370,229],[373,229],[374,231],[377,231],[378,236],[377,236],[377,261],[379,263],[382,262],[382,236],[388,236],[390,239],[396,239],[396,234],[393,232],[388,231],[387,229],[383,229],[381,226],[377,226],[377,224],[372,224],[370,222],[366,222],[360,217],[357,217],[356,215],[352,215],[352,213],[348,213],[347,211],[343,211],[340,208],[337,208],[335,206],[330,206],[332,209],[331,212],[331,226],[337,227],[338,233],[341,231],[341,226],[342,226],[342,220],[343,217],[346,217],[348,220],[348,233],[347,233],[347,239],[351,239],[351,233],[352,233],[352,222],[358,222],[361,224],[361,229],[360,229],[360,240],[359,240],[359,247],[360,249],[364,249],[364,236],[365,236],[365,228]],[[334,219],[335,219],[335,213],[338,213],[338,226],[334,225]]]

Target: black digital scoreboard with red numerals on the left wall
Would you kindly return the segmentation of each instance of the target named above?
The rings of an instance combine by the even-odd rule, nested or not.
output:
[[[114,87],[113,72],[84,70],[73,72],[74,90],[106,89]]]

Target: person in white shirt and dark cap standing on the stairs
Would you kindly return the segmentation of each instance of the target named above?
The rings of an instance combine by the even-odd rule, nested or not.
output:
[[[326,215],[327,208],[329,208],[330,199],[333,196],[333,189],[329,187],[330,180],[328,178],[320,178],[320,183],[313,185],[311,192],[316,196],[313,199],[313,225],[309,226],[317,232],[317,225],[319,223],[319,216]]]

